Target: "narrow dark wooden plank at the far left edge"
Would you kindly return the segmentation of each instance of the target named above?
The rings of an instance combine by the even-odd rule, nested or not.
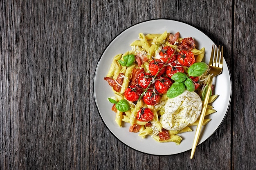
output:
[[[20,6],[0,2],[0,169],[18,166]]]

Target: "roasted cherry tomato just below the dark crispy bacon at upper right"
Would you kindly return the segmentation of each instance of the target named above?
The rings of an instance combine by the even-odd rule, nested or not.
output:
[[[180,54],[177,57],[178,61],[182,66],[191,66],[195,62],[195,56],[191,51],[180,51]]]

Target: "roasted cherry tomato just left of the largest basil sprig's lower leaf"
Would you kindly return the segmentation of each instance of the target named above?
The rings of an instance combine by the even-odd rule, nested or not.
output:
[[[155,81],[155,90],[159,93],[166,93],[168,89],[171,87],[173,82],[167,77],[158,77]]]

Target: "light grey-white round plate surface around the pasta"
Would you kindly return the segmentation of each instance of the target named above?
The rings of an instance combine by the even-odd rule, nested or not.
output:
[[[108,97],[114,96],[114,93],[103,77],[106,77],[113,57],[119,53],[130,51],[130,44],[134,40],[138,40],[139,33],[163,33],[164,31],[169,33],[176,33],[179,31],[180,37],[182,38],[194,38],[198,49],[205,47],[205,62],[209,63],[211,47],[214,42],[208,38],[207,35],[195,27],[183,22],[166,19],[148,20],[129,27],[112,40],[99,60],[94,77],[94,98],[106,127],[113,135],[115,135],[115,137],[117,137],[117,139],[130,148],[151,155],[173,155],[190,150],[192,148],[196,126],[191,126],[193,132],[180,134],[183,139],[180,145],[176,145],[173,142],[158,143],[150,136],[146,139],[141,139],[141,137],[138,136],[138,133],[128,131],[130,124],[124,123],[123,127],[117,126],[115,122],[115,113],[111,110],[112,104],[107,100]],[[207,126],[202,128],[202,137],[198,144],[201,144],[216,131],[222,123],[222,120],[225,118],[229,108],[231,99],[231,79],[225,61],[222,74],[218,75],[214,80],[213,84],[216,85],[215,94],[220,95],[212,105],[217,112],[208,116],[211,121],[209,121]]]

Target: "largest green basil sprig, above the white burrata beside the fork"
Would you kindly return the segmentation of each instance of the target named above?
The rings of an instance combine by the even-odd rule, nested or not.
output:
[[[178,72],[175,73],[171,79],[173,79],[175,82],[171,87],[168,89],[166,95],[169,98],[174,98],[177,97],[178,95],[181,95],[185,89],[188,91],[195,91],[195,85],[193,83],[193,80],[189,78],[190,76],[192,77],[198,77],[207,70],[208,65],[205,64],[204,62],[198,62],[192,64],[189,69],[188,69],[188,75],[187,76],[185,73]]]

